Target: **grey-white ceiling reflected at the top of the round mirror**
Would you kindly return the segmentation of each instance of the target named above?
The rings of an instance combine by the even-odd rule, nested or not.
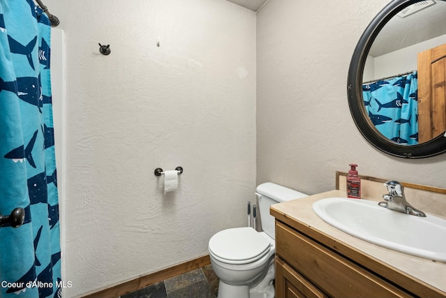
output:
[[[446,1],[436,1],[413,15],[395,15],[385,24],[369,51],[372,57],[446,34]]]

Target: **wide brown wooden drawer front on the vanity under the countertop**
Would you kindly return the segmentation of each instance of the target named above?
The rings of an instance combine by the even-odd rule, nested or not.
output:
[[[367,269],[276,221],[276,255],[330,297],[412,297]]]

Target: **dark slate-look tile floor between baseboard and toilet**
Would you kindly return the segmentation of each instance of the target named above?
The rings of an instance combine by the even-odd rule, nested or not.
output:
[[[215,298],[218,277],[210,265],[174,276],[121,298]]]

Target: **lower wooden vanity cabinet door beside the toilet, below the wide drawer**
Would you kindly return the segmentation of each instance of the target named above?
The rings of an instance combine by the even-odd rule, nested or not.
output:
[[[293,268],[276,258],[276,297],[283,298],[325,298],[323,292],[309,283]]]

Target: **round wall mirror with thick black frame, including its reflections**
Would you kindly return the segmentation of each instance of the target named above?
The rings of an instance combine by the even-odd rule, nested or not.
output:
[[[348,70],[357,128],[392,156],[446,151],[446,1],[394,0],[362,34]]]

